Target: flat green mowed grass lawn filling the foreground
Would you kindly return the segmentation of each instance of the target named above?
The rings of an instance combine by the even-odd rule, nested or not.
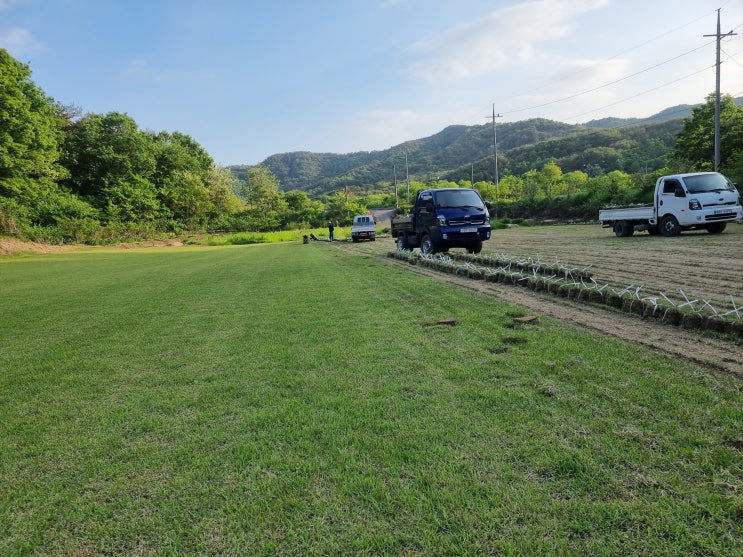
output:
[[[688,362],[325,242],[0,284],[1,555],[743,552],[741,384]]]

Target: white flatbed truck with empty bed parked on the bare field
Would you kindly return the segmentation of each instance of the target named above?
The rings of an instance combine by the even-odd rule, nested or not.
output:
[[[661,176],[655,183],[651,206],[599,211],[603,227],[613,228],[620,238],[641,230],[663,236],[678,236],[682,230],[692,229],[720,234],[727,223],[741,220],[740,194],[735,184],[718,172]]]

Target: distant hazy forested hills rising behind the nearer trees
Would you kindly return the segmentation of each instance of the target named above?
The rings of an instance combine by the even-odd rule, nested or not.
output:
[[[571,125],[546,119],[497,123],[499,172],[521,174],[557,161],[563,171],[638,172],[663,166],[665,155],[692,107],[668,108],[645,119],[606,118]],[[395,178],[493,179],[493,126],[449,126],[423,139],[383,151],[350,154],[292,152],[268,157],[263,165],[281,189],[321,195],[348,185],[370,186]],[[247,166],[230,169],[244,178]]]

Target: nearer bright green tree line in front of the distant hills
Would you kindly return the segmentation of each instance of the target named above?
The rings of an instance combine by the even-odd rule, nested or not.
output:
[[[542,158],[538,168],[515,158],[512,166],[521,171],[506,173],[497,184],[474,175],[362,182],[313,198],[304,190],[282,191],[263,165],[236,177],[186,134],[143,131],[125,113],[82,114],[61,105],[3,49],[0,84],[0,234],[55,243],[315,228],[328,220],[343,225],[368,207],[404,211],[415,191],[426,187],[474,187],[500,217],[595,218],[602,205],[649,200],[657,174],[707,170],[713,158],[709,98],[684,121],[666,166],[654,173],[598,165],[564,172],[556,158]],[[741,181],[743,108],[729,96],[721,120],[721,170]],[[648,145],[647,156],[661,156],[660,145]]]

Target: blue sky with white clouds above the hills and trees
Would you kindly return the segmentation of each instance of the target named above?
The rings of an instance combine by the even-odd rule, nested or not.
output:
[[[252,165],[702,103],[718,9],[743,96],[743,0],[0,0],[0,48],[63,105]]]

